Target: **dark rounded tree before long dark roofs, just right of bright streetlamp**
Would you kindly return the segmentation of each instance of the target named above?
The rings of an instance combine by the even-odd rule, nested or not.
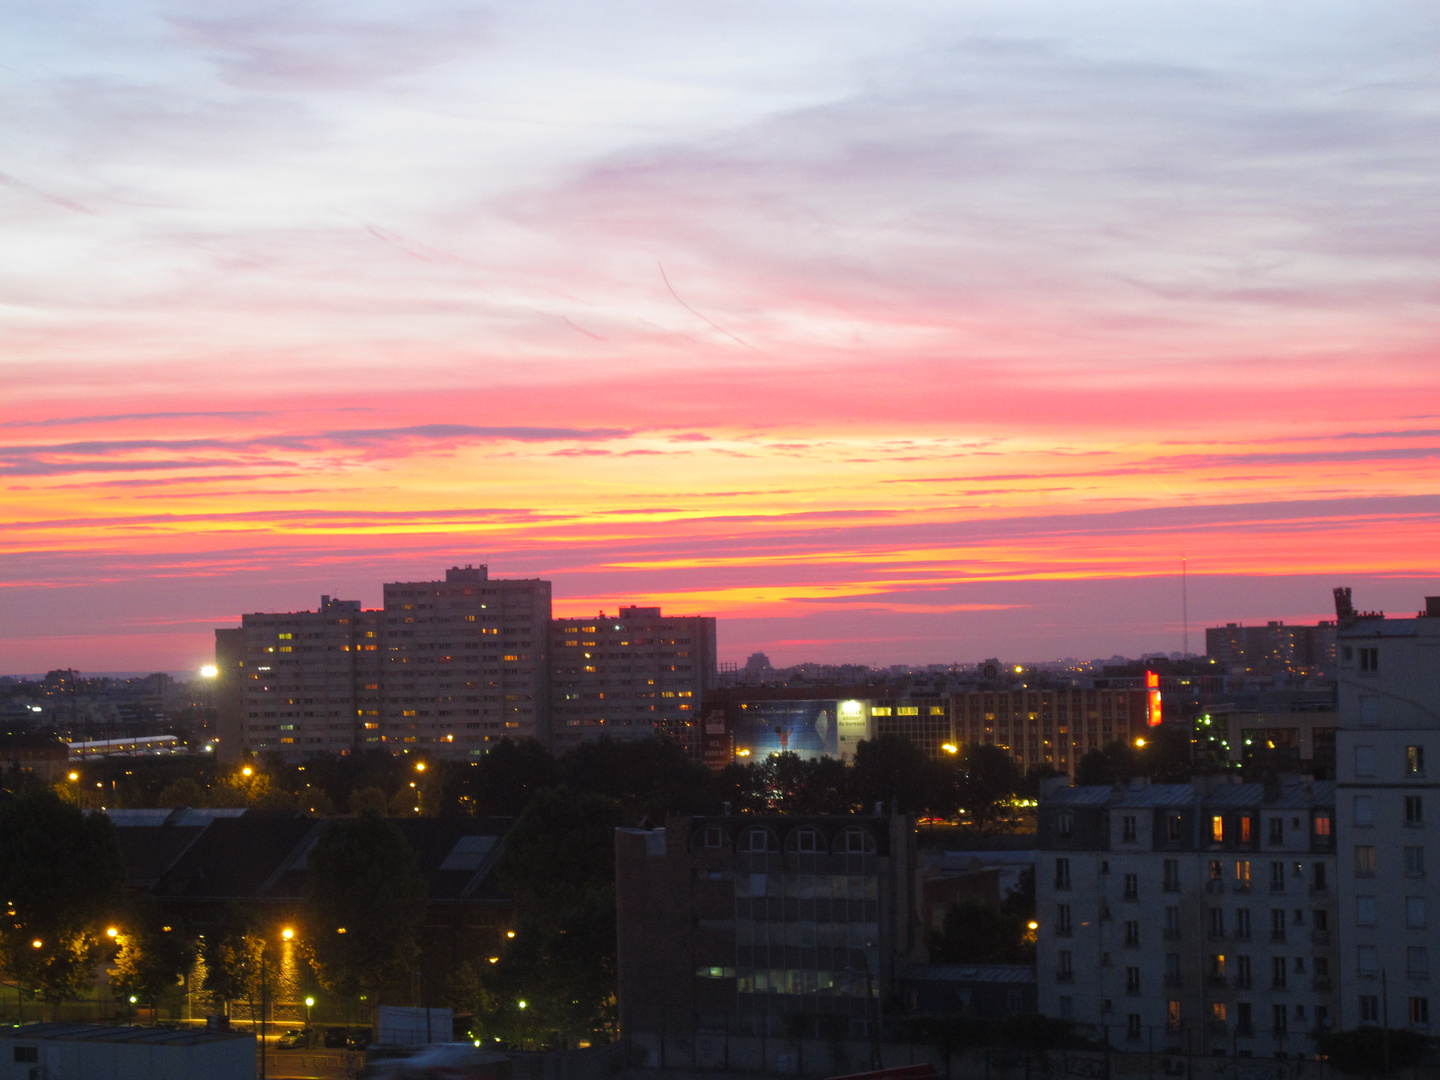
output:
[[[336,818],[310,851],[311,963],[327,989],[376,1004],[419,956],[425,880],[405,835],[374,814]],[[343,933],[341,933],[343,930]]]

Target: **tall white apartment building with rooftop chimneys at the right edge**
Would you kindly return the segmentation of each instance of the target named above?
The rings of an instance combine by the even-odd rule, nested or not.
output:
[[[1440,1027],[1440,598],[1391,619],[1356,613],[1338,589],[1336,609],[1341,1022],[1428,1032]]]

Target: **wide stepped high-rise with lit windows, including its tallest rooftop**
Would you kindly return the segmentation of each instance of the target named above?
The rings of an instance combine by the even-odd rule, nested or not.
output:
[[[312,612],[253,613],[216,631],[222,759],[245,752],[382,747],[441,757],[503,737],[544,739],[550,583],[491,579],[384,586],[384,608],[321,598]]]

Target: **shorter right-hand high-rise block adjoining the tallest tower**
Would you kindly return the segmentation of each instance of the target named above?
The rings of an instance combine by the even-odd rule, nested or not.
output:
[[[716,621],[621,608],[550,621],[550,742],[668,736],[700,750],[700,704],[716,678]]]

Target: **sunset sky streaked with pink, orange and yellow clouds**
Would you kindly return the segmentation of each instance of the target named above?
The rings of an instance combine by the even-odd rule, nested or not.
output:
[[[0,672],[464,563],[776,664],[1440,593],[1433,4],[12,0],[0,95]]]

